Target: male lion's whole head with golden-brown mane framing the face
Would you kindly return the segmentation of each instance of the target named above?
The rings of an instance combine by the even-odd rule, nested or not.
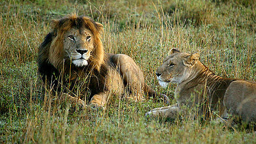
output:
[[[87,16],[70,15],[51,22],[51,32],[43,42],[42,54],[48,56],[56,69],[61,71],[70,62],[77,67],[90,66],[100,70],[104,63],[101,43],[103,25]]]

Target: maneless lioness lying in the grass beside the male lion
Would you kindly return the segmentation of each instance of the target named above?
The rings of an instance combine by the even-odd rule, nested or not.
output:
[[[195,108],[199,114],[215,110],[221,117],[229,113],[243,121],[256,122],[256,82],[215,75],[198,60],[197,53],[181,53],[172,48],[168,54],[156,75],[163,87],[177,83],[177,104],[155,108],[146,115],[175,118],[183,105]]]

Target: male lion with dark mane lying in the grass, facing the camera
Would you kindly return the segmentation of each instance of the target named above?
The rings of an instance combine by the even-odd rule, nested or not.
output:
[[[51,28],[38,51],[38,71],[62,99],[85,107],[80,98],[89,95],[91,107],[102,107],[108,95],[123,95],[125,90],[135,100],[143,99],[143,91],[156,95],[133,59],[104,53],[100,23],[87,16],[70,15],[53,20]]]

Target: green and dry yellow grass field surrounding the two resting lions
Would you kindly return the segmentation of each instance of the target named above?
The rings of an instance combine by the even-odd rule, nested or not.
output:
[[[106,52],[131,56],[147,83],[170,98],[176,85],[163,89],[155,78],[170,48],[199,52],[223,77],[256,80],[255,0],[1,0],[0,5],[0,143],[256,143],[256,134],[241,125],[145,117],[165,105],[152,99],[113,98],[106,110],[83,112],[44,104],[36,64],[49,22],[76,12],[101,22]]]

